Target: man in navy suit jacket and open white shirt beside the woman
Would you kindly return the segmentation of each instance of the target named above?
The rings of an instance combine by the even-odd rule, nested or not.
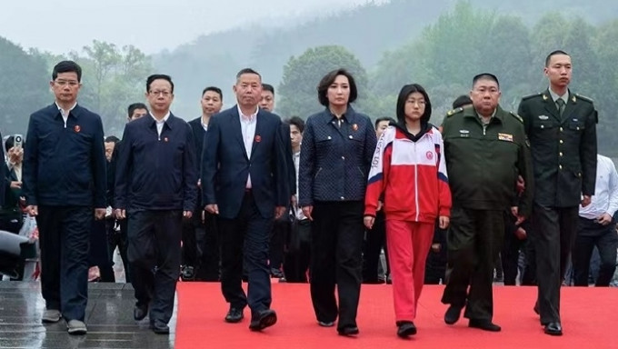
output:
[[[262,77],[253,69],[236,75],[237,105],[214,115],[204,138],[203,204],[218,214],[221,237],[221,286],[230,310],[225,321],[243,319],[252,311],[249,329],[261,331],[276,323],[270,309],[268,239],[274,219],[284,214],[290,188],[279,116],[258,108]],[[288,142],[290,136],[285,137]],[[243,264],[249,294],[242,288]]]

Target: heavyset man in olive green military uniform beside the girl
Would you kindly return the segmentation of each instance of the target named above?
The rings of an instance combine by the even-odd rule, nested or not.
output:
[[[470,327],[500,331],[493,324],[493,266],[503,246],[508,210],[517,224],[532,212],[533,170],[522,119],[499,105],[495,75],[473,78],[473,105],[444,118],[444,159],[453,194],[447,234],[448,264],[442,303],[444,322],[454,324],[463,307]],[[518,175],[526,185],[517,194]]]

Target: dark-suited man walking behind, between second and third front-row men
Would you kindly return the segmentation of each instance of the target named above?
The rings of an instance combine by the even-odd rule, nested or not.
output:
[[[224,95],[219,87],[209,86],[202,91],[200,99],[202,116],[189,122],[194,133],[195,165],[199,173],[204,148],[204,135],[208,131],[211,116],[219,113],[224,105]],[[197,186],[201,186],[198,181]],[[219,244],[216,219],[204,212],[201,195],[190,221],[183,226],[183,274],[184,281],[219,281]]]

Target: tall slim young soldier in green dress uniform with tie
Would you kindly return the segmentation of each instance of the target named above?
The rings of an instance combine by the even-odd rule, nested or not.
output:
[[[596,180],[593,101],[573,94],[571,57],[554,51],[545,59],[549,88],[523,97],[519,115],[530,140],[534,168],[533,231],[539,286],[534,311],[545,334],[563,334],[560,286],[577,230],[579,204],[590,204]]]

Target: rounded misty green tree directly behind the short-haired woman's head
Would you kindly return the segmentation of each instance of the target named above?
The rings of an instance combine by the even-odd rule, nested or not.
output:
[[[360,61],[343,46],[318,46],[298,57],[292,56],[284,66],[284,78],[278,88],[279,114],[306,117],[320,111],[316,87],[326,73],[338,68],[354,75],[358,102],[362,103],[367,95],[367,74]]]

